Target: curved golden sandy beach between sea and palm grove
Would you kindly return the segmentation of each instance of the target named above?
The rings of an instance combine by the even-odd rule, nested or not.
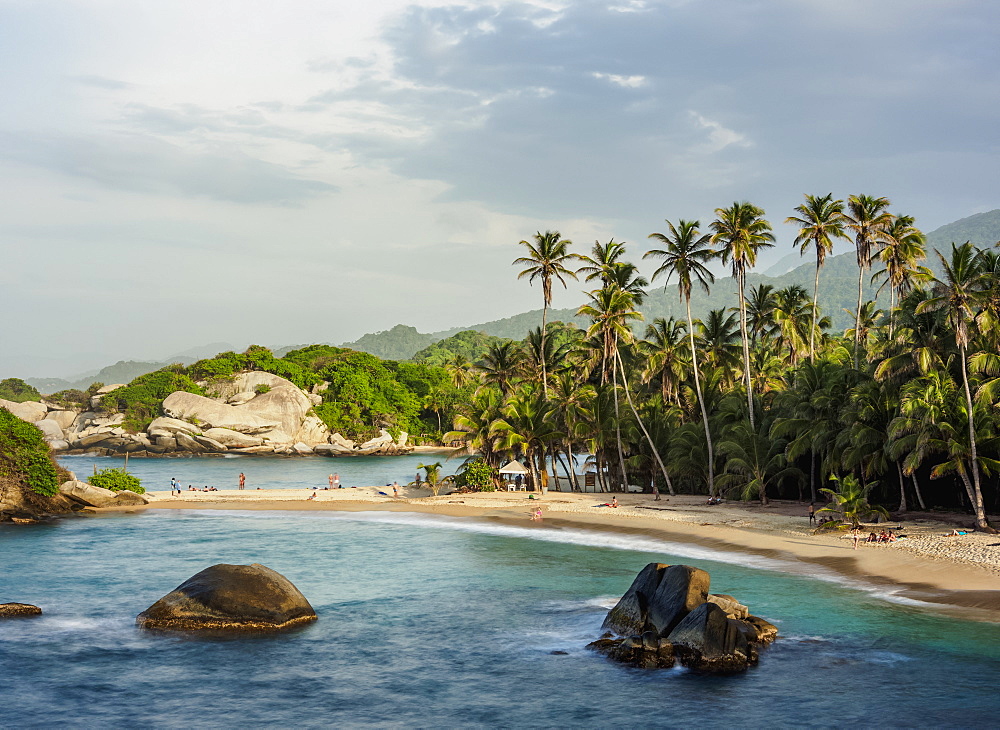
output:
[[[315,494],[315,499],[308,499]],[[966,618],[1000,622],[1000,535],[946,533],[962,515],[913,513],[897,533],[906,539],[864,544],[855,550],[849,535],[814,535],[808,506],[778,502],[769,507],[742,503],[706,505],[704,498],[615,495],[617,508],[598,506],[610,494],[553,492],[529,499],[524,492],[430,496],[428,490],[401,487],[338,490],[274,489],[150,492],[148,509],[399,511],[531,525],[535,529],[579,528],[704,547],[739,551],[780,561],[787,572],[846,579],[859,587],[923,604]],[[541,523],[529,520],[540,506]],[[129,508],[134,510],[135,508]],[[877,529],[877,528],[876,528]],[[919,602],[919,603],[916,603]]]

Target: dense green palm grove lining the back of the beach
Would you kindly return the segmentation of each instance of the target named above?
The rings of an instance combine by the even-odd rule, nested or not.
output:
[[[493,343],[475,366],[446,364],[476,387],[445,439],[494,467],[522,458],[536,483],[555,468],[574,488],[580,452],[609,491],[815,501],[826,480],[850,476],[899,512],[914,500],[963,506],[991,529],[1000,255],[953,243],[933,252],[934,273],[914,218],[890,207],[870,195],[805,196],[786,223],[815,257],[812,292],[747,288],[758,254],[775,244],[765,212],[748,202],[716,209],[705,227],[666,221],[642,253],[658,264],[649,281],[623,242],[582,254],[557,231],[536,233],[514,265],[541,287],[541,326],[523,343]],[[854,326],[842,333],[817,304],[837,240],[854,244],[858,264]],[[738,305],[695,319],[691,292],[711,291],[716,262],[736,280]],[[888,289],[888,309],[865,300],[866,279]],[[554,286],[569,280],[593,287],[578,310],[586,330],[547,321]],[[677,284],[687,316],[643,330],[638,308],[658,280]]]

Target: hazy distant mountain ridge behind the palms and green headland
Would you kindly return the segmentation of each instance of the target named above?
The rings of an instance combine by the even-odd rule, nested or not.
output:
[[[962,218],[953,223],[941,226],[927,234],[928,250],[938,249],[947,252],[949,244],[952,242],[963,243],[971,241],[978,246],[991,246],[1000,241],[1000,209],[986,213]],[[632,252],[633,259],[638,259],[641,253],[638,250]],[[795,265],[797,263],[797,265]],[[938,260],[931,253],[928,265],[937,270]],[[767,269],[767,273],[751,273],[747,276],[747,286],[757,286],[759,284],[770,284],[775,289],[782,289],[792,284],[799,284],[806,288],[811,294],[813,276],[815,273],[815,259],[813,255],[799,257],[797,252],[790,256],[783,257]],[[512,269],[512,276],[514,270]],[[858,267],[853,250],[831,256],[827,259],[823,271],[820,274],[820,295],[819,303],[822,313],[829,316],[833,322],[833,331],[840,331],[850,326],[852,317],[845,309],[852,310],[857,303],[857,281]],[[573,286],[575,282],[570,282]],[[652,322],[656,317],[685,316],[683,303],[677,294],[677,287],[670,285],[664,289],[662,280],[656,282],[655,288],[651,288],[645,303],[641,307],[644,322],[640,322],[638,329],[643,329],[645,323]],[[587,286],[580,282],[581,291]],[[866,286],[866,297],[872,298],[875,289],[871,285]],[[539,290],[538,298],[541,293]],[[883,300],[885,300],[883,302]],[[580,304],[583,304],[585,297],[580,296]],[[880,302],[887,303],[888,295],[883,292]],[[700,289],[695,289],[691,298],[692,314],[695,317],[703,317],[709,310],[721,307],[731,307],[736,304],[736,283],[728,275],[728,272],[718,272],[718,278],[709,294],[705,294]],[[576,316],[576,307],[564,309],[552,309],[549,311],[549,321],[561,320],[572,322],[577,326],[586,326],[587,322],[583,317]],[[465,326],[453,327],[440,332],[421,333],[414,327],[399,324],[392,329],[382,332],[373,332],[360,337],[354,342],[345,342],[341,346],[349,347],[387,360],[406,360],[414,354],[424,349],[428,345],[439,340],[450,337],[465,330],[475,330],[495,337],[505,337],[509,339],[523,339],[527,332],[541,323],[541,309],[522,312],[520,314],[507,317],[505,319],[493,320]],[[109,365],[98,371],[89,371],[72,375],[66,378],[24,378],[24,380],[43,393],[52,393],[66,388],[84,389],[93,382],[103,383],[127,383],[133,378],[154,370],[158,370],[171,363],[189,364],[195,360],[211,357],[226,350],[243,350],[252,343],[242,343],[234,345],[229,342],[213,342],[208,345],[193,347],[183,352],[175,353],[170,357],[160,361],[135,361],[122,360],[114,365]],[[283,345],[272,349],[275,354],[281,356],[290,350],[302,345]],[[335,343],[321,343],[335,344]],[[2,377],[17,375],[16,373],[2,374]]]

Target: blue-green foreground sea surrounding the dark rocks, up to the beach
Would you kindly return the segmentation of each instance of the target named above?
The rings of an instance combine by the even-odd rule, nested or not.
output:
[[[927,727],[995,726],[1000,713],[1000,626],[752,556],[375,512],[2,527],[0,601],[45,613],[0,623],[0,727]],[[759,666],[710,677],[587,650],[651,561],[704,568],[713,590],[777,625]],[[220,562],[284,574],[319,620],[231,639],[136,629],[136,614]]]

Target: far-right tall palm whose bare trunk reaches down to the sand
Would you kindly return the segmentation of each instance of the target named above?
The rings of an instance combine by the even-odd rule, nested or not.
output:
[[[944,310],[948,315],[958,345],[960,365],[962,368],[962,387],[965,390],[966,415],[969,423],[969,446],[971,449],[971,467],[973,484],[973,509],[976,512],[976,529],[985,532],[995,532],[986,519],[983,506],[983,493],[979,484],[979,459],[976,453],[976,427],[972,391],[969,388],[969,367],[967,351],[969,347],[969,326],[979,313],[980,305],[985,299],[983,287],[986,277],[980,267],[978,252],[971,243],[961,246],[951,244],[951,260],[938,252],[942,267],[942,278],[933,277],[933,294],[917,307],[917,312]]]

